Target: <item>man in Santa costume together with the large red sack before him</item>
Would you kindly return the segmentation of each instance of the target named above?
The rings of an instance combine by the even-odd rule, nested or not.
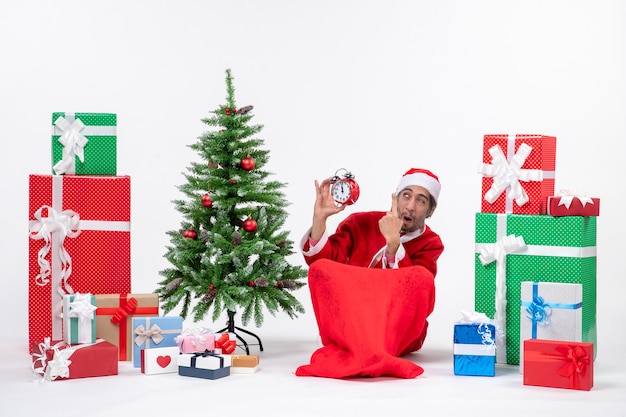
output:
[[[329,179],[315,181],[313,224],[300,241],[324,347],[296,375],[415,377],[423,370],[397,357],[422,347],[434,308],[444,246],[425,220],[437,207],[439,179],[429,170],[409,169],[389,211],[353,213],[333,234],[326,221],[346,206],[335,203],[331,186]],[[361,306],[363,300],[369,305]],[[380,344],[377,338],[386,339]]]

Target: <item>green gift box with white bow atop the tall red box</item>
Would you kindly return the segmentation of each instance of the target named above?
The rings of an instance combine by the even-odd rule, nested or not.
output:
[[[117,175],[117,115],[52,113],[52,173]]]

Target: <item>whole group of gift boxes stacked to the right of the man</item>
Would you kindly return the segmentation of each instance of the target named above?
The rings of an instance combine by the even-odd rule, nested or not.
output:
[[[553,136],[485,135],[479,172],[474,307],[493,325],[495,352],[480,337],[466,339],[474,355],[494,360],[465,374],[494,375],[497,362],[519,365],[525,385],[591,389],[600,201],[555,193]],[[455,349],[457,327],[476,324],[455,324]],[[464,374],[457,359],[455,373]]]

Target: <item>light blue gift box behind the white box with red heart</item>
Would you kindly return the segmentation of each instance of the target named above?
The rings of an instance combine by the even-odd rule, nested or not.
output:
[[[176,345],[175,339],[183,331],[180,316],[133,317],[133,366],[141,367],[141,350]]]

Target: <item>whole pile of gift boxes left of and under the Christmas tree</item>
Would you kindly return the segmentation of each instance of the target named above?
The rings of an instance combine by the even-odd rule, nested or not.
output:
[[[131,292],[130,177],[117,175],[117,115],[53,113],[52,165],[52,174],[29,177],[36,374],[117,375],[120,361],[148,375],[207,379],[229,375],[231,365],[256,370],[258,356],[232,355],[233,333],[190,336],[182,317],[160,316],[157,294]]]

